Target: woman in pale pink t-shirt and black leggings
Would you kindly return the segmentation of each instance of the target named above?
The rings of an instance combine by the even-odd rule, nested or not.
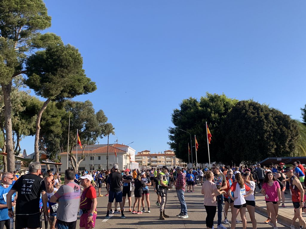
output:
[[[224,194],[225,191],[219,191],[215,183],[212,182],[214,174],[209,171],[206,174],[206,181],[203,183],[201,193],[204,195],[204,207],[206,210],[206,228],[210,229],[214,226],[214,218],[216,215],[216,197]]]

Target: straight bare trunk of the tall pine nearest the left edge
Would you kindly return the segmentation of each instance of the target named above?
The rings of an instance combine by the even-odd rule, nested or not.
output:
[[[8,171],[15,170],[14,144],[13,144],[13,129],[12,129],[12,104],[11,104],[11,90],[12,82],[9,84],[2,84],[3,98],[4,98],[4,119],[5,119],[5,139],[6,139],[6,153],[7,153],[7,169]]]

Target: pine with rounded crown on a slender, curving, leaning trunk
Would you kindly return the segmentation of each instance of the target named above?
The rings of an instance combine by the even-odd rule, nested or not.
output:
[[[26,62],[26,84],[35,93],[47,99],[37,114],[35,133],[35,158],[39,161],[39,132],[43,111],[50,101],[63,101],[96,90],[96,85],[86,77],[83,59],[72,45],[50,45],[37,51]]]

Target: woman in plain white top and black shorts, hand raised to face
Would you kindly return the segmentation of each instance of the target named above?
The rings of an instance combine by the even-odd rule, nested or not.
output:
[[[251,188],[251,190],[253,191],[252,194],[245,196],[245,201],[247,204],[247,209],[248,209],[248,213],[250,215],[251,218],[251,222],[253,225],[253,229],[257,228],[257,221],[256,221],[256,217],[255,217],[255,187],[256,187],[256,183],[253,179],[253,176],[251,175],[250,171],[246,171],[246,173],[244,173],[242,175],[242,178],[244,180],[244,183]],[[246,194],[248,194],[249,192],[246,191]]]

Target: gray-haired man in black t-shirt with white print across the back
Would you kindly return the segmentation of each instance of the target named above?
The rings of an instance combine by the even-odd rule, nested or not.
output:
[[[40,171],[40,163],[31,162],[29,164],[29,173],[22,175],[6,195],[6,199],[9,200],[15,192],[18,193],[16,200],[16,229],[40,227],[40,194],[42,195],[44,212],[49,220],[46,185],[43,178],[38,176]],[[7,208],[8,216],[14,217],[12,202],[7,202]]]

